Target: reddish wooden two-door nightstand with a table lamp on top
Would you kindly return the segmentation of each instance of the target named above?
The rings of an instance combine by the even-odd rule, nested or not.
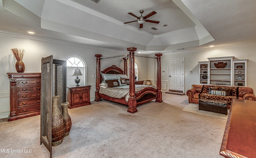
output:
[[[90,105],[90,88],[91,86],[74,86],[68,88],[68,108]]]

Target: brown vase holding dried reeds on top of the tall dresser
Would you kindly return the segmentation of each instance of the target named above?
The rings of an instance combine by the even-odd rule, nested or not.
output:
[[[12,48],[12,53],[14,54],[15,58],[17,59],[17,62],[15,64],[15,68],[17,72],[24,72],[25,71],[25,64],[22,61],[23,55],[25,50],[24,49],[18,49],[18,48]]]

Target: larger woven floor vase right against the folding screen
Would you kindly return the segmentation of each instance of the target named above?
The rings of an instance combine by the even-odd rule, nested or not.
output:
[[[65,134],[65,123],[58,108],[58,98],[52,96],[52,146],[62,143]]]

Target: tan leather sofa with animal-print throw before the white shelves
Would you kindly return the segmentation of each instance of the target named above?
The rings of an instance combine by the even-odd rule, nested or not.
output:
[[[216,96],[209,94],[209,88],[230,88],[232,92],[229,96]],[[187,91],[188,102],[198,104],[199,98],[213,99],[213,100],[226,100],[231,104],[233,98],[243,100],[256,101],[256,97],[253,94],[253,89],[250,87],[235,87],[235,86],[222,86],[222,85],[198,85],[193,84],[191,89]]]

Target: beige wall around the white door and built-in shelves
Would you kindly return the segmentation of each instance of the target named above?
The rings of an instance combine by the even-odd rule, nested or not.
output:
[[[168,81],[168,60],[173,58],[184,58],[185,66],[185,93],[190,89],[192,84],[199,84],[198,62],[208,61],[208,58],[234,56],[237,59],[248,59],[247,62],[247,86],[256,92],[256,44],[241,46],[230,46],[222,48],[209,48],[205,50],[184,51],[179,53],[168,53],[162,56],[162,70],[166,74],[162,75],[162,82]],[[189,71],[192,70],[193,74]],[[150,73],[150,72],[149,72]],[[150,74],[148,75],[150,76]],[[168,85],[167,85],[168,88]]]

